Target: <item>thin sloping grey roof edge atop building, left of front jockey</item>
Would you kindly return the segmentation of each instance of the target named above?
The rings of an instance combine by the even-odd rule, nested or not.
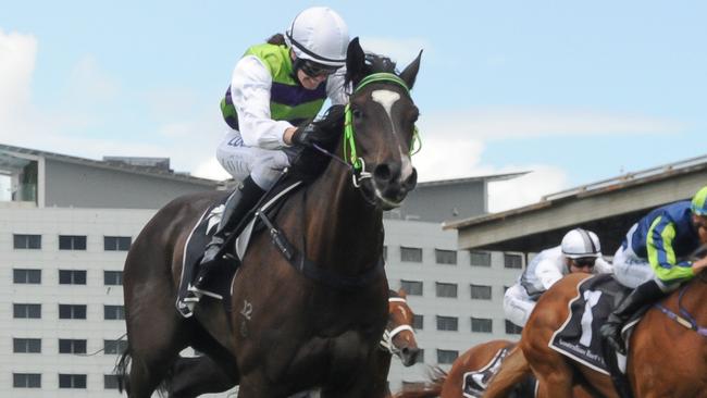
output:
[[[137,166],[137,165],[129,165],[127,163],[122,163],[121,164],[121,163],[115,163],[115,162],[106,162],[106,161],[100,161],[100,160],[78,158],[78,157],[72,157],[72,156],[69,156],[69,154],[61,154],[61,153],[41,151],[41,150],[37,150],[37,149],[14,147],[14,146],[7,145],[7,144],[0,144],[0,152],[7,152],[7,153],[13,153],[14,152],[14,153],[30,154],[30,156],[35,156],[35,157],[41,157],[41,158],[54,160],[54,161],[58,161],[58,162],[75,163],[75,164],[83,164],[83,165],[92,166],[92,167],[101,167],[101,169],[122,171],[122,172],[126,172],[126,173],[149,175],[149,176],[154,176],[154,177],[160,177],[160,178],[187,182],[187,183],[191,183],[191,184],[201,184],[201,185],[209,186],[209,187],[213,187],[213,186],[215,186],[215,185],[218,185],[220,183],[219,181],[215,181],[215,179],[194,177],[191,175],[182,174],[182,173],[174,173],[172,171],[159,170],[159,169],[156,169],[156,167],[142,167],[142,166]]]

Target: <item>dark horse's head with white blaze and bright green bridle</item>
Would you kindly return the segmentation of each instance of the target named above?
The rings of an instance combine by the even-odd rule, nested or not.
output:
[[[410,152],[419,112],[410,89],[421,54],[396,74],[390,60],[367,57],[358,38],[348,48],[347,82],[355,90],[345,116],[345,156],[363,194],[385,210],[400,206],[418,181]]]

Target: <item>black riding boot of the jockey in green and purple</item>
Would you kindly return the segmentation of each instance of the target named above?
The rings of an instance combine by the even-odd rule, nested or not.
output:
[[[219,252],[226,237],[233,233],[233,228],[238,225],[248,211],[256,206],[264,190],[248,176],[228,197],[219,228],[207,245],[203,258],[199,263],[199,273],[194,282],[196,289],[204,290],[204,287],[209,286],[210,275],[213,274],[211,271],[223,263]]]

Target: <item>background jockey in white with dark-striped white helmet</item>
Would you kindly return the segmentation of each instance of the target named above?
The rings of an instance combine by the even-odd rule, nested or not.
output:
[[[506,319],[525,326],[541,295],[565,275],[574,272],[612,272],[611,264],[601,258],[599,238],[591,231],[574,228],[565,234],[560,246],[543,250],[533,258],[518,282],[506,290]]]

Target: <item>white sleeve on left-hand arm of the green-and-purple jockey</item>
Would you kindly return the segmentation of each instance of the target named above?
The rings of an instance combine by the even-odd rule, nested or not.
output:
[[[248,147],[280,149],[286,146],[283,135],[293,125],[272,120],[271,86],[270,71],[257,57],[246,55],[236,63],[231,78],[231,99],[238,113],[240,136]]]

